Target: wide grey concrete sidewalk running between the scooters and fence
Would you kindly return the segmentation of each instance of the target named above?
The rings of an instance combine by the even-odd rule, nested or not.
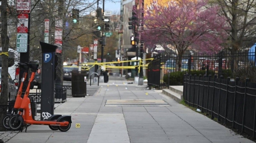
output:
[[[55,114],[72,116],[68,132],[32,125],[7,143],[253,143],[161,90],[145,88],[100,83],[93,96],[70,98],[55,109]]]

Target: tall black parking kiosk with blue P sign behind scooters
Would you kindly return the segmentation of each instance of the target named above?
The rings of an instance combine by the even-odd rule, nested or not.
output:
[[[42,48],[42,82],[41,82],[41,120],[53,115],[54,112],[54,86],[58,56],[56,45],[40,41]]]

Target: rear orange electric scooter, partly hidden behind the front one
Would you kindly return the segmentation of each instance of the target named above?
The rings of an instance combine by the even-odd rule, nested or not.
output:
[[[17,93],[17,97],[16,97],[16,100],[15,100],[14,107],[12,108],[12,113],[7,114],[3,118],[2,123],[3,123],[3,127],[5,129],[11,129],[10,126],[9,126],[9,119],[13,115],[17,114],[17,111],[20,108],[20,105],[22,103],[21,93],[22,93],[22,90],[26,87],[26,85],[24,87],[23,87],[23,85],[24,85],[24,81],[26,81],[26,77],[27,77],[27,74],[28,74],[29,67],[26,64],[23,64],[23,63],[18,63],[17,67],[20,67],[21,69],[25,70],[25,72],[23,73],[23,78],[22,78],[21,83],[20,83],[20,88],[19,88],[19,91]]]

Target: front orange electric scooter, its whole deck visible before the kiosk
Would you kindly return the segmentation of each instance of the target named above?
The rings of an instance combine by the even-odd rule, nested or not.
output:
[[[25,125],[27,130],[27,124],[30,125],[48,125],[52,130],[60,130],[61,132],[67,132],[71,127],[71,116],[61,116],[52,115],[48,118],[48,121],[35,121],[32,117],[34,112],[32,112],[32,106],[29,99],[29,90],[33,89],[33,84],[31,84],[35,77],[35,72],[38,70],[38,64],[26,63],[32,70],[31,77],[29,79],[28,86],[26,88],[25,95],[23,97],[20,109],[18,109],[17,114],[13,115],[9,120],[9,126],[12,130],[22,130],[23,125]],[[56,120],[56,121],[55,121]],[[57,126],[57,128],[56,128]],[[25,132],[26,132],[25,130]]]

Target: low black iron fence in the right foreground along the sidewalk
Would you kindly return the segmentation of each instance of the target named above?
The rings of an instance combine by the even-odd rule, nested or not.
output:
[[[208,112],[230,128],[255,137],[256,83],[212,76],[184,75],[183,98],[186,104]]]

